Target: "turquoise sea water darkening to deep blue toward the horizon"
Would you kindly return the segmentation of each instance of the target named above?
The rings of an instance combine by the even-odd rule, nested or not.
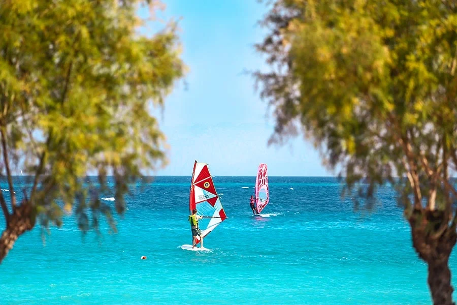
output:
[[[216,176],[228,219],[204,240],[210,252],[193,252],[180,249],[191,243],[189,180],[134,188],[117,234],[83,239],[67,217],[45,245],[39,227],[21,236],[0,265],[0,304],[431,303],[392,190],[361,215],[335,178],[270,177],[270,217],[254,218],[255,178]]]

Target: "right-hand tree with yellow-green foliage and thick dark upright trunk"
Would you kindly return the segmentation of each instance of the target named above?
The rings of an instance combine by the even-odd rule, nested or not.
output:
[[[255,73],[274,108],[270,139],[300,130],[345,191],[373,202],[391,184],[428,264],[434,304],[452,304],[457,239],[457,4],[448,0],[276,0]]]

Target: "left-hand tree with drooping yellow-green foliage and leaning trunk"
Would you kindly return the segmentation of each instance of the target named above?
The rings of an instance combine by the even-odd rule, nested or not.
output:
[[[0,262],[37,220],[60,226],[64,211],[74,211],[83,231],[97,229],[103,215],[115,230],[112,207],[97,196],[107,175],[122,213],[129,183],[165,164],[150,107],[164,103],[184,66],[175,24],[139,34],[143,3],[155,8],[138,0],[0,3],[1,170],[11,197],[0,192]],[[33,174],[23,190],[13,178],[19,166]]]

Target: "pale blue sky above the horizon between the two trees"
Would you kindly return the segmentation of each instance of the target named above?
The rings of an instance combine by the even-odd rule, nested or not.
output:
[[[302,137],[267,146],[273,119],[246,70],[266,68],[253,44],[262,40],[256,22],[267,12],[256,0],[164,0],[166,19],[179,18],[182,58],[190,71],[167,98],[160,127],[170,145],[169,165],[158,175],[190,175],[193,161],[218,175],[256,174],[267,163],[271,176],[333,175]],[[140,15],[144,11],[140,10]]]

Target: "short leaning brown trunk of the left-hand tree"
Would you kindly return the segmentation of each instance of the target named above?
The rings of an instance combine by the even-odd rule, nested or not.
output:
[[[6,257],[8,252],[13,248],[17,238],[34,227],[32,221],[32,207],[23,202],[20,206],[14,208],[10,216],[8,226],[0,237],[0,263]]]

